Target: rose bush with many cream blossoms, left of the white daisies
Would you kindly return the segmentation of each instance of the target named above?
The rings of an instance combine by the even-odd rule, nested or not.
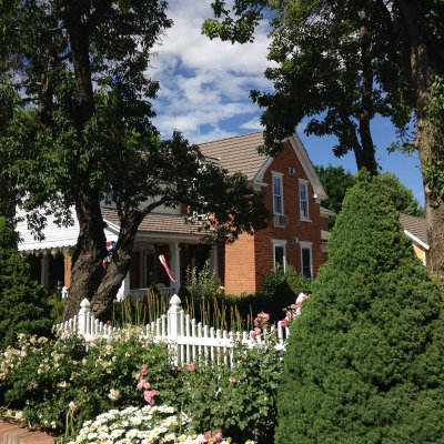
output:
[[[164,344],[139,341],[128,329],[110,341],[87,344],[75,335],[58,340],[21,336],[18,349],[0,355],[0,402],[22,410],[27,421],[62,430],[73,413],[79,425],[109,410],[141,404],[134,371],[148,365],[147,379],[159,401],[175,400],[175,374]]]

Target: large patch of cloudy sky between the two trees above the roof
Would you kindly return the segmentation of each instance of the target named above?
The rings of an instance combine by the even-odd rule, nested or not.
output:
[[[162,135],[176,129],[192,142],[212,140],[259,127],[261,111],[249,97],[251,89],[270,89],[265,26],[253,43],[231,44],[201,34],[211,18],[210,1],[169,3],[174,24],[163,38],[150,75],[161,84],[154,101],[154,123]]]

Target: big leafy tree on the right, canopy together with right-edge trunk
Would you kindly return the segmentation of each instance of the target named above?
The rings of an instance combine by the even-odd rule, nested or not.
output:
[[[265,110],[274,152],[302,118],[307,133],[334,134],[336,155],[353,150],[376,172],[370,122],[389,117],[400,147],[417,150],[423,172],[432,272],[444,282],[444,4],[441,0],[216,0],[210,38],[248,41],[265,17],[272,43],[265,71],[274,92],[252,92]],[[411,118],[414,117],[412,120]]]

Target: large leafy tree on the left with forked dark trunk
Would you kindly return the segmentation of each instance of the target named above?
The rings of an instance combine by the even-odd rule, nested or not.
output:
[[[243,176],[205,162],[179,133],[162,141],[152,124],[150,60],[171,24],[161,0],[1,2],[0,174],[36,229],[47,212],[70,223],[75,209],[65,319],[85,296],[105,316],[138,226],[160,205],[211,213],[206,226],[229,240],[264,223],[261,195]],[[100,202],[110,193],[121,226],[103,270]]]

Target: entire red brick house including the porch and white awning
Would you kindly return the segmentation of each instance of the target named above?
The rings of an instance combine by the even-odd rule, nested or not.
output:
[[[321,206],[325,191],[296,134],[289,138],[276,158],[260,155],[262,132],[253,132],[200,145],[211,162],[230,173],[242,172],[250,183],[265,194],[265,204],[273,214],[265,230],[252,235],[242,234],[232,244],[202,243],[201,233],[186,223],[184,208],[159,208],[139,228],[130,272],[121,292],[144,292],[154,283],[169,296],[179,290],[188,269],[201,268],[210,261],[231,294],[255,293],[262,289],[263,275],[278,264],[294,268],[314,278],[326,260],[327,220],[332,213]],[[119,218],[112,206],[102,208],[107,223],[107,240],[115,241]],[[36,241],[24,222],[18,230],[22,242],[19,249],[32,253],[34,275],[48,289],[70,285],[70,255],[75,245],[79,225],[58,228],[49,223],[43,241]],[[153,244],[161,246],[178,279],[172,285],[157,260]]]

